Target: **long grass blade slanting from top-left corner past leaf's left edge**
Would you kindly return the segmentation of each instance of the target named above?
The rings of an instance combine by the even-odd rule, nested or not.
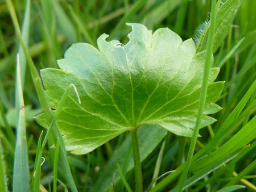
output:
[[[29,55],[26,47],[24,46],[22,36],[21,36],[21,33],[20,33],[19,23],[18,23],[18,20],[16,18],[13,3],[11,2],[11,0],[6,0],[6,2],[7,2],[8,9],[10,11],[11,18],[12,18],[13,23],[14,23],[16,35],[18,35],[20,44],[22,45],[23,51],[26,55],[28,65],[30,66],[30,72],[31,72],[33,83],[34,83],[35,88],[36,88],[36,93],[38,94],[38,98],[39,98],[40,104],[42,106],[43,112],[44,112],[44,114],[46,114],[47,123],[50,124],[50,122],[53,118],[53,114],[52,114],[51,108],[48,105],[47,97],[45,95],[45,91],[44,91],[44,88],[42,86],[42,81],[40,79],[40,76],[39,76],[36,68],[35,68],[34,62],[31,59],[31,56]],[[62,171],[63,171],[64,176],[65,176],[65,177],[64,176],[63,177],[67,180],[67,182],[69,184],[69,187],[71,188],[71,191],[77,192],[76,185],[75,185],[75,182],[73,180],[71,170],[69,168],[67,152],[65,151],[65,145],[64,145],[63,137],[61,136],[61,133],[59,131],[59,128],[57,127],[57,124],[55,124],[52,131],[53,131],[53,133],[52,133],[52,138],[53,139],[56,140],[57,137],[60,137],[60,161],[63,164]]]

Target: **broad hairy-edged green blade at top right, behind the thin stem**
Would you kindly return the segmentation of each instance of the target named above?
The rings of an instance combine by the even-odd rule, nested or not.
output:
[[[218,1],[220,2],[220,1]],[[228,0],[217,11],[216,31],[214,32],[213,53],[220,47],[222,41],[229,33],[233,20],[237,15],[237,11],[241,5],[241,0]],[[206,24],[204,31],[201,32],[197,40],[197,52],[207,48],[207,39],[209,35],[210,20]]]

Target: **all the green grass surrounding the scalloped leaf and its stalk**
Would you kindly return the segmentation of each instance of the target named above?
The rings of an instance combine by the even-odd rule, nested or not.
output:
[[[218,121],[201,129],[201,137],[162,130],[154,132],[156,140],[138,132],[144,191],[256,191],[256,1],[243,0],[239,8],[239,1],[228,2],[232,10],[217,13],[213,36],[210,25],[203,24],[211,1],[0,0],[0,191],[135,189],[129,133],[88,155],[66,152],[58,114],[50,110],[39,77],[40,69],[57,68],[56,60],[73,43],[96,45],[103,33],[127,43],[127,22],[151,30],[168,27],[183,40],[197,39],[197,51],[214,52],[212,65],[221,67],[217,80],[225,81],[218,101],[222,110],[212,115]],[[212,43],[208,37],[214,37]],[[49,130],[32,118],[39,111],[47,114]],[[188,152],[191,140],[195,152]],[[189,167],[183,164],[187,157]],[[179,185],[184,170],[188,173]]]

